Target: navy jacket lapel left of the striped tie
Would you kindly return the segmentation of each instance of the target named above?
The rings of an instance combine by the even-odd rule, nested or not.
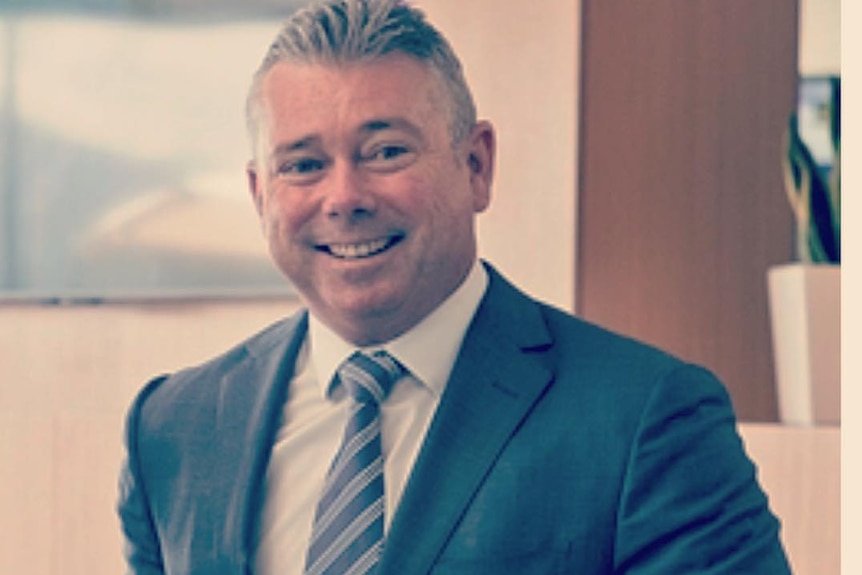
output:
[[[220,382],[213,441],[225,476],[233,480],[223,498],[211,499],[228,502],[223,544],[246,566],[270,451],[306,328],[307,315],[301,313],[253,339],[246,357]]]

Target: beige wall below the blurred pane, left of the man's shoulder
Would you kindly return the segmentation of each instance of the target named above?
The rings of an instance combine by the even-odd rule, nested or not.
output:
[[[114,504],[132,396],[296,306],[0,305],[0,573],[122,572]]]

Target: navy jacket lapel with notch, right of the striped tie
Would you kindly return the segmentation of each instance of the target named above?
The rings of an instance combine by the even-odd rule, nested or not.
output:
[[[520,422],[550,384],[551,345],[538,306],[489,270],[387,537],[380,575],[429,571]]]

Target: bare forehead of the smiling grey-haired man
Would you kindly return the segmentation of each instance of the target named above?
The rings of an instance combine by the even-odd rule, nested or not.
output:
[[[261,96],[277,139],[358,130],[376,120],[401,119],[423,131],[448,125],[438,75],[402,54],[349,64],[282,62],[263,78]]]

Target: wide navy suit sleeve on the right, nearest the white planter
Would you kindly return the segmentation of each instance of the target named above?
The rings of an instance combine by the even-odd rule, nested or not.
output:
[[[646,403],[630,453],[616,573],[790,573],[779,523],[736,431],[730,398],[706,370],[682,366]]]

